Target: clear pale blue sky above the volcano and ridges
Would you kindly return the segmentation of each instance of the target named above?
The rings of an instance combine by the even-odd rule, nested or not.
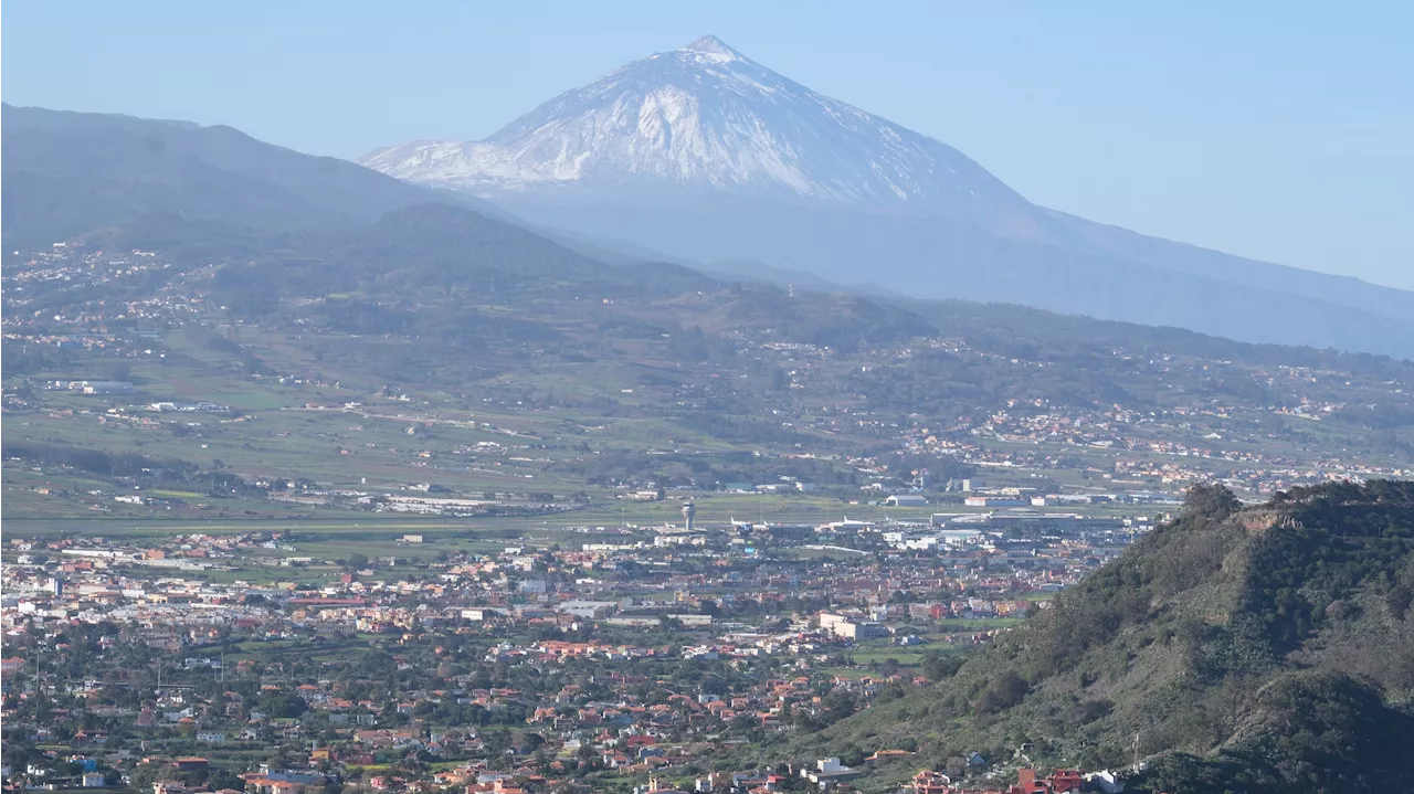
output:
[[[704,32],[1036,203],[1414,288],[1408,0],[0,0],[0,100],[356,157]]]

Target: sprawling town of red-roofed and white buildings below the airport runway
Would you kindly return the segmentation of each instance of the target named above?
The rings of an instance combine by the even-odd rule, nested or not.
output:
[[[1147,520],[680,513],[539,540],[11,538],[3,770],[25,790],[154,794],[1076,790],[1017,747],[923,773],[913,747],[779,747],[947,675]]]

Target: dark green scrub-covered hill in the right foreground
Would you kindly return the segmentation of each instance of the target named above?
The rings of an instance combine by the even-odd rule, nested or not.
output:
[[[807,737],[916,745],[925,763],[1124,767],[1189,793],[1360,793],[1414,783],[1414,483],[1297,489],[1182,517],[949,675]],[[1137,747],[1135,747],[1137,737]],[[1024,749],[1024,750],[1022,750]]]

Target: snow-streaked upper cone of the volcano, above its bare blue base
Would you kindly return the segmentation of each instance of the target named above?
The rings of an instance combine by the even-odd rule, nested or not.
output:
[[[359,162],[484,195],[687,189],[969,216],[977,202],[1029,206],[952,147],[792,82],[711,35],[568,90],[482,141],[413,141]]]

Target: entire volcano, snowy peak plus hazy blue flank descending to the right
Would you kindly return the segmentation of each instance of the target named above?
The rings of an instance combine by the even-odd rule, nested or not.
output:
[[[690,261],[1414,356],[1414,292],[1035,206],[952,147],[713,37],[626,64],[482,141],[414,141],[361,162]]]

